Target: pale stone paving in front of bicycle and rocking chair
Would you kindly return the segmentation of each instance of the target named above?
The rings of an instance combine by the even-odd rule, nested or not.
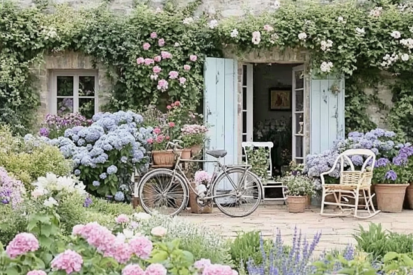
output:
[[[280,205],[266,205],[260,207],[254,214],[244,218],[230,218],[214,209],[212,214],[182,214],[180,219],[202,223],[212,230],[217,230],[225,237],[235,237],[242,231],[260,230],[265,237],[274,237],[277,228],[281,230],[284,244],[290,245],[294,228],[302,230],[307,239],[320,231],[322,237],[317,250],[344,248],[347,244],[354,244],[352,234],[357,232],[359,225],[364,228],[368,224],[381,223],[382,227],[398,233],[413,233],[413,211],[403,210],[402,213],[379,213],[372,219],[357,220],[352,217],[327,218],[320,216],[319,208],[306,210],[302,214],[290,214]]]

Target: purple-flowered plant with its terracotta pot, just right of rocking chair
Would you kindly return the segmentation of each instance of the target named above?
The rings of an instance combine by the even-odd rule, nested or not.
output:
[[[389,159],[380,158],[373,172],[373,184],[377,208],[382,212],[399,213],[403,210],[406,189],[412,182],[412,172],[408,169],[407,159],[398,162],[397,157],[393,164]]]

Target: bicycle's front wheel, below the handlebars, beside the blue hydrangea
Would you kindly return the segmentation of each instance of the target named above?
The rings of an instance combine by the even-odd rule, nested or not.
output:
[[[169,169],[153,170],[139,184],[139,203],[148,214],[175,216],[187,207],[188,200],[185,180]]]

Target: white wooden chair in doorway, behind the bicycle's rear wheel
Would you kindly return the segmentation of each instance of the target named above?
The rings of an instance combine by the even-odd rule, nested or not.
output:
[[[274,147],[274,143],[271,141],[269,142],[243,142],[241,143],[242,150],[244,150],[245,154],[245,163],[248,164],[248,157],[247,157],[247,148],[268,148],[268,157],[269,157],[269,166],[268,166],[268,178],[266,182],[263,182],[263,203],[265,206],[265,201],[286,201],[286,187],[283,186],[282,182],[276,182],[275,180],[272,180],[272,160],[271,160],[271,148]],[[265,189],[267,188],[281,188],[283,197],[282,198],[265,198]]]

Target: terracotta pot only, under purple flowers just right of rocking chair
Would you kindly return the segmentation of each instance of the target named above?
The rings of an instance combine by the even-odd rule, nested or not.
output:
[[[377,208],[382,212],[402,212],[408,186],[409,184],[376,184]]]

